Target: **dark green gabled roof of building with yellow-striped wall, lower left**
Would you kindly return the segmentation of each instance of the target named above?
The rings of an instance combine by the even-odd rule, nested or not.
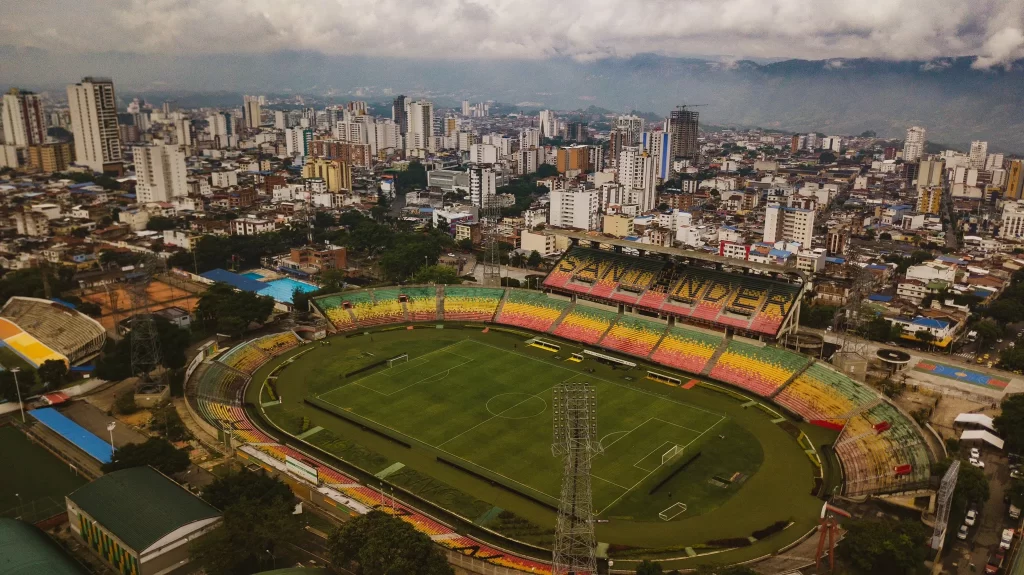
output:
[[[136,552],[175,529],[220,515],[151,467],[106,474],[68,498]]]

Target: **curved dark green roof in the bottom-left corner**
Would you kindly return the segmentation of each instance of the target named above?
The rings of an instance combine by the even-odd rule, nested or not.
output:
[[[0,575],[86,575],[35,526],[0,518]]]

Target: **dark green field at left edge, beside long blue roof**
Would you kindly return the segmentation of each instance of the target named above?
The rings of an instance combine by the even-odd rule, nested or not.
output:
[[[0,447],[8,461],[16,461],[0,470],[0,517],[20,516],[27,521],[52,517],[65,508],[65,495],[86,483],[68,463],[13,427],[0,427]]]

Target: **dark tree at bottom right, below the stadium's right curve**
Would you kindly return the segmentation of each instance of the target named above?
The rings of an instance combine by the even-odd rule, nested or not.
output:
[[[903,575],[922,567],[928,532],[914,521],[848,520],[839,556],[862,573]]]

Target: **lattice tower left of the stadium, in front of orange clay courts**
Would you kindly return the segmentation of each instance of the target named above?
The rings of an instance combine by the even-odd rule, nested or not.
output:
[[[131,371],[140,384],[151,383],[152,371],[160,365],[160,336],[157,322],[150,312],[150,284],[160,273],[163,262],[151,255],[142,256],[127,277],[128,297],[131,299]]]

